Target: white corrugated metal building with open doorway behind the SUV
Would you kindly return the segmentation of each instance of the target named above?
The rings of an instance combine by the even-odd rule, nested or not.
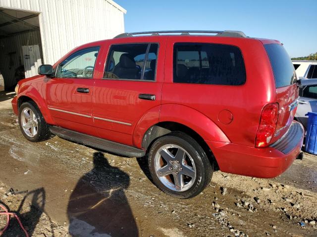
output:
[[[41,63],[53,64],[76,46],[123,33],[125,13],[113,0],[0,0],[5,87],[15,85],[22,65],[30,77]]]

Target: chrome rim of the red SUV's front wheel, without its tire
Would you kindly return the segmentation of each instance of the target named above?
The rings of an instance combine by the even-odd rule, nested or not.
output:
[[[30,108],[24,108],[21,112],[21,126],[25,134],[34,137],[38,133],[38,120]]]

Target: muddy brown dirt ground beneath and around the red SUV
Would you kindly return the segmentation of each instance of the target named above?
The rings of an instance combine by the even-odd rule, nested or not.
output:
[[[28,142],[11,98],[0,94],[0,203],[21,217],[30,236],[317,236],[316,156],[305,154],[274,179],[215,171],[201,195],[179,200],[156,188],[144,158],[57,136]],[[23,236],[16,220],[4,236]]]

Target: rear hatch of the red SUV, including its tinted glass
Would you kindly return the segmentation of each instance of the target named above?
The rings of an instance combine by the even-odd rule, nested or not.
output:
[[[281,138],[288,130],[295,116],[298,104],[297,78],[292,61],[281,44],[264,44],[271,62],[275,86],[276,102],[279,106],[276,130],[271,143]]]

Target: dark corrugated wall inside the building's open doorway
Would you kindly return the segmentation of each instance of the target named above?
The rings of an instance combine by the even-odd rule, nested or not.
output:
[[[13,37],[0,39],[0,72],[5,80],[5,86],[16,83],[15,69],[24,65],[22,45],[39,44],[41,49],[41,35],[39,31],[19,34]]]

